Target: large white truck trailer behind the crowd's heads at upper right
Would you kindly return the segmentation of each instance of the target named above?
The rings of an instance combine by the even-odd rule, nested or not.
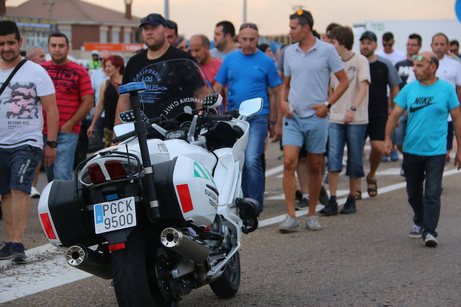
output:
[[[354,23],[354,46],[352,50],[360,53],[360,36],[365,31],[372,31],[378,37],[378,49],[382,50],[382,37],[386,32],[394,34],[394,49],[406,53],[406,43],[408,35],[416,33],[423,38],[423,48],[421,51],[432,51],[432,36],[442,32],[448,39],[461,41],[461,22],[458,19],[408,19],[408,20],[367,20]]]

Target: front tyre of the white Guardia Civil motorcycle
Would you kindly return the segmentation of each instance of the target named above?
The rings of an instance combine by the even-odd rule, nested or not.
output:
[[[232,262],[231,262],[232,261]],[[221,298],[234,296],[240,287],[240,254],[236,252],[227,263],[221,276],[209,284],[213,292]]]

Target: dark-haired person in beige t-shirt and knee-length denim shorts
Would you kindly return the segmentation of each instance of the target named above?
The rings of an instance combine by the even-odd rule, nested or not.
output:
[[[354,34],[349,27],[337,26],[330,32],[330,40],[344,63],[349,80],[346,92],[330,108],[328,139],[328,182],[330,200],[320,213],[338,214],[336,192],[339,173],[343,168],[344,144],[347,144],[346,176],[349,177],[349,196],[341,209],[342,214],[355,213],[355,200],[359,197],[360,178],[364,177],[362,150],[365,144],[365,131],[368,123],[368,84],[370,65],[361,54],[352,52]],[[339,80],[330,75],[330,87],[335,91]]]

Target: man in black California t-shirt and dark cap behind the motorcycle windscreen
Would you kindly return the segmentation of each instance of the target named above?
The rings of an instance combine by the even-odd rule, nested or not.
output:
[[[200,99],[210,94],[195,68],[195,59],[167,42],[165,26],[160,14],[141,19],[139,27],[148,49],[130,58],[123,72],[123,84],[146,83],[148,89],[140,95],[140,100],[141,109],[149,118],[160,114],[174,118],[182,112],[190,113],[200,105]],[[116,125],[121,123],[118,114],[129,109],[129,96],[121,95],[115,113]]]

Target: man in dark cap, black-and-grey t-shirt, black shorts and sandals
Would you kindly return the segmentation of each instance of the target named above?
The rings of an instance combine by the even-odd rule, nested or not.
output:
[[[390,105],[387,99],[387,86],[390,86],[389,95],[396,97],[399,94],[399,84],[402,82],[392,62],[376,55],[374,51],[376,34],[366,31],[360,37],[360,52],[370,63],[371,84],[368,99],[368,127],[366,135],[370,137],[370,172],[367,174],[367,191],[370,197],[378,195],[378,183],[375,173],[383,157],[384,130],[389,114]]]

